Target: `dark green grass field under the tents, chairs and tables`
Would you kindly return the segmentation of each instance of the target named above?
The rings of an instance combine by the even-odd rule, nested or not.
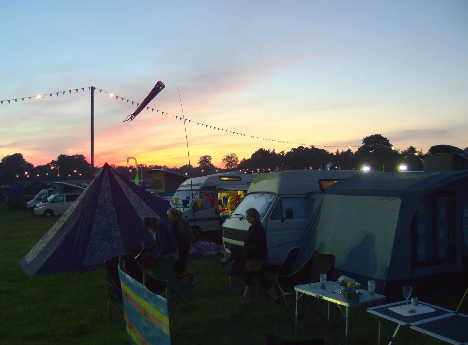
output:
[[[0,344],[129,344],[123,321],[110,325],[103,269],[32,278],[22,272],[18,261],[25,249],[58,219],[0,205]],[[325,338],[329,345],[344,340],[344,318],[336,306],[330,307],[330,323],[323,313],[309,309],[304,325],[294,334],[291,318],[282,315],[285,303],[271,305],[261,287],[249,300],[239,298],[240,290],[229,295],[227,269],[219,261],[219,256],[189,261],[191,271],[202,273],[188,295],[191,305],[182,305],[171,315],[174,344],[263,344],[266,332],[286,339]],[[460,298],[434,303],[455,309]],[[364,307],[352,309],[351,318],[354,344],[376,344],[376,319]],[[389,331],[395,329],[393,324],[385,325]],[[400,337],[404,344],[438,344],[411,330],[402,330]]]

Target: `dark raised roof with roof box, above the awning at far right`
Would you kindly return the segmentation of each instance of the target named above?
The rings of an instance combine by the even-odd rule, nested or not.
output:
[[[451,145],[431,146],[423,156],[424,171],[468,170],[468,153]]]

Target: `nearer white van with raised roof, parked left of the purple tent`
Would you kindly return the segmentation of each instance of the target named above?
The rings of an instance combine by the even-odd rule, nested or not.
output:
[[[63,215],[73,202],[78,199],[85,188],[75,186],[66,182],[55,182],[57,190],[49,196],[46,201],[40,202],[34,208],[34,214],[50,217]]]

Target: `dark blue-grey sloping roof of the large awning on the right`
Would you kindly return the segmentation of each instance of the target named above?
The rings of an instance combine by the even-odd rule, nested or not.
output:
[[[464,177],[468,177],[468,171],[369,172],[336,183],[328,187],[325,194],[401,197],[404,194],[434,190]]]

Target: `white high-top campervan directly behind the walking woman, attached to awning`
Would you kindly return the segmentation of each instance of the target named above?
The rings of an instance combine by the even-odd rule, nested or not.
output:
[[[244,245],[250,224],[248,208],[256,208],[266,230],[268,260],[281,265],[297,255],[302,231],[322,200],[323,191],[333,183],[363,173],[359,170],[288,170],[257,176],[244,200],[222,225],[224,254],[232,245]],[[294,258],[295,259],[295,258]]]

